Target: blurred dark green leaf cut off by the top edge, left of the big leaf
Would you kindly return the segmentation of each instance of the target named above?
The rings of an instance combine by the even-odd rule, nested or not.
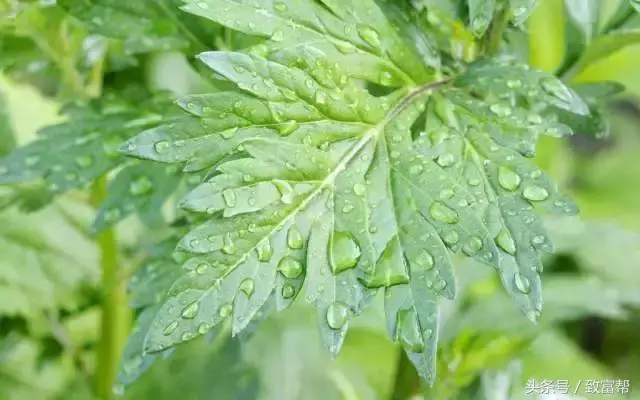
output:
[[[188,14],[177,14],[178,0],[137,3],[127,0],[60,0],[58,5],[87,29],[124,42],[128,54],[190,49],[213,45],[218,28],[204,26]]]

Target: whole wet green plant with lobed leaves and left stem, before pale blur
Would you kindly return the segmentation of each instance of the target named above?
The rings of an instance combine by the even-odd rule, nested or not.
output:
[[[0,3],[0,68],[67,102],[37,140],[3,139],[5,202],[89,189],[99,208],[99,396],[129,330],[113,227],[132,214],[172,229],[131,279],[117,392],[158,354],[249,335],[294,302],[316,308],[335,356],[380,293],[389,337],[433,383],[455,254],[493,267],[537,322],[554,251],[541,215],[577,206],[532,161],[536,144],[606,135],[604,104],[623,88],[567,82],[639,37],[637,2],[598,24],[597,1],[567,0],[565,61],[544,72],[516,49],[536,3]],[[167,51],[186,55],[186,89],[144,84]]]

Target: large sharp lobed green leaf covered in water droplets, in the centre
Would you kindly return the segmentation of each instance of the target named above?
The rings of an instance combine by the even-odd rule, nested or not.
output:
[[[265,305],[304,298],[336,354],[350,319],[384,288],[392,337],[431,381],[438,296],[456,291],[451,252],[497,268],[537,319],[539,257],[552,250],[537,214],[576,208],[526,157],[539,135],[570,133],[541,110],[588,108],[558,79],[506,58],[436,81],[375,2],[323,4],[186,2],[269,40],[200,54],[235,89],[185,97],[191,118],[122,147],[209,173],[181,203],[206,220],[180,241],[187,272],[145,351],[223,321],[237,334]],[[387,90],[372,94],[362,80]]]

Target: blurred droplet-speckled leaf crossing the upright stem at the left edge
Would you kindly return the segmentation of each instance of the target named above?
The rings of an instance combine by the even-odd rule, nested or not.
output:
[[[0,160],[0,184],[44,180],[59,193],[84,187],[124,162],[118,152],[122,141],[161,121],[170,104],[165,99],[135,104],[146,93],[134,92],[127,100],[106,95],[66,107],[67,122],[41,129],[35,141]]]

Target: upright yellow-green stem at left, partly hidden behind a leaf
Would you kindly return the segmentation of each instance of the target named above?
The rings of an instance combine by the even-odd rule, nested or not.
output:
[[[98,178],[91,190],[91,202],[99,206],[106,197],[105,177]],[[119,279],[118,246],[113,229],[100,233],[100,270],[102,273],[102,320],[98,344],[96,393],[100,400],[112,397],[112,385],[120,363],[120,353],[129,334],[131,312],[127,303],[125,280]]]

